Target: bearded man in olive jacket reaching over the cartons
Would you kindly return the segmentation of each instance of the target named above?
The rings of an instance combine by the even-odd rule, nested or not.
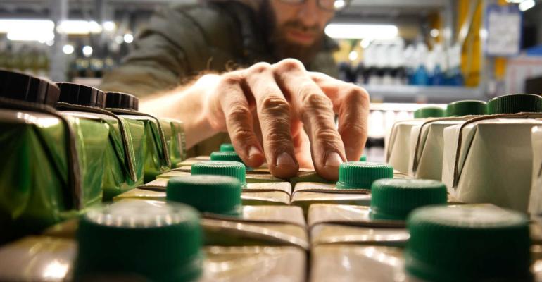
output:
[[[231,139],[248,166],[267,161],[279,178],[315,168],[336,180],[339,165],[362,154],[369,112],[365,90],[333,78],[336,44],[324,35],[346,2],[209,0],[164,9],[101,88],[143,97],[141,111],[183,121],[191,155]]]

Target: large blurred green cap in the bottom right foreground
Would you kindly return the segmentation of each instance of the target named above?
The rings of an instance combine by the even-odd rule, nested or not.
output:
[[[407,227],[405,268],[422,281],[531,281],[529,224],[518,212],[422,207]]]

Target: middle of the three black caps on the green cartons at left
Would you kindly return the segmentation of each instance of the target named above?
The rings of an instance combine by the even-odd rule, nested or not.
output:
[[[106,106],[106,93],[99,89],[68,82],[56,83],[56,85],[61,89],[58,102],[80,106],[95,106],[102,109]]]

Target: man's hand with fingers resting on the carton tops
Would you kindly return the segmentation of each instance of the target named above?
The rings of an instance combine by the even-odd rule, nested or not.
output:
[[[208,127],[227,131],[248,166],[266,159],[279,178],[295,176],[301,165],[336,180],[339,164],[358,160],[365,146],[367,92],[310,73],[295,59],[205,75],[196,85],[206,89],[201,106]]]

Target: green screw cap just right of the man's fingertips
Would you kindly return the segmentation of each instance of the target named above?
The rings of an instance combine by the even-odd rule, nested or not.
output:
[[[389,164],[368,161],[347,161],[339,166],[338,189],[370,189],[374,180],[393,178]]]

